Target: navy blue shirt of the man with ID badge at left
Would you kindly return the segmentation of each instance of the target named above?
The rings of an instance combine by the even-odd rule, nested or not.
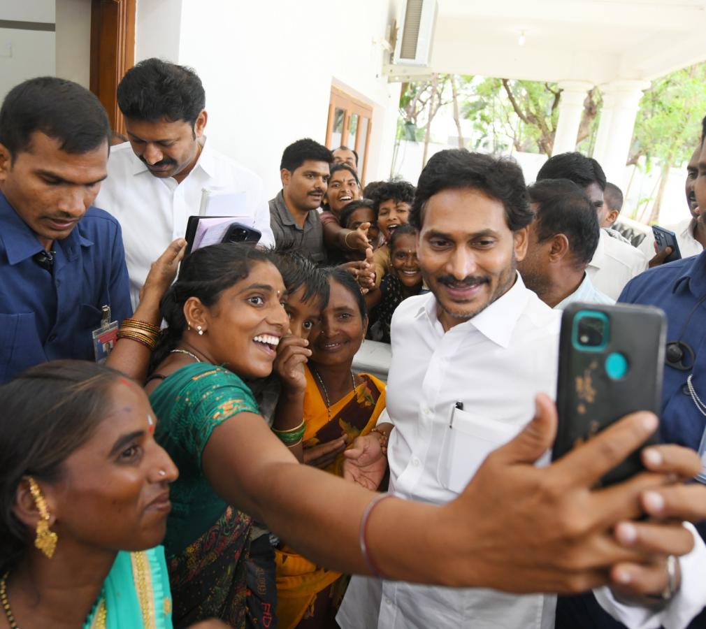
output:
[[[107,212],[89,208],[52,243],[51,273],[32,259],[43,248],[0,193],[0,382],[48,360],[94,360],[101,307],[112,321],[132,312],[120,225]]]

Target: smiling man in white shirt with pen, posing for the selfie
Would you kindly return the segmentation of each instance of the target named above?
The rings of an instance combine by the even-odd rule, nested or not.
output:
[[[378,432],[359,438],[347,454],[374,462],[388,440],[390,491],[398,496],[453,501],[486,455],[532,418],[534,396],[554,393],[559,313],[526,289],[515,270],[531,221],[522,171],[510,160],[445,150],[419,178],[410,222],[419,229],[417,255],[431,293],[406,299],[393,317],[387,389],[393,425],[378,422]],[[664,570],[664,556],[657,561]],[[500,569],[509,574],[513,565]],[[662,589],[664,575],[661,581],[652,587]],[[691,585],[701,592],[698,582]],[[623,609],[609,594],[602,604],[645,628],[660,622],[672,628],[682,626],[674,611],[682,594],[658,611]],[[702,605],[706,594],[700,596]],[[543,594],[354,577],[337,621],[343,629],[548,629],[555,602]]]

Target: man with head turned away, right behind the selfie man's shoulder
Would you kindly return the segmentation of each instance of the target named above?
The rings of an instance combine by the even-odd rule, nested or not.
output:
[[[598,245],[596,210],[584,191],[568,179],[544,179],[527,189],[534,221],[527,255],[517,263],[525,286],[550,308],[572,301],[614,304],[592,284],[586,267]]]

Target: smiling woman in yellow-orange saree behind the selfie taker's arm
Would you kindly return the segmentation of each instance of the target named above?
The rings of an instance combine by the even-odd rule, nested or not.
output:
[[[366,333],[368,316],[358,285],[345,270],[328,271],[330,298],[321,323],[309,337],[304,394],[304,460],[342,476],[343,450],[368,434],[385,408],[385,383],[354,373],[354,354]],[[335,614],[348,578],[325,570],[282,546],[277,562],[277,616],[280,629],[335,627]]]

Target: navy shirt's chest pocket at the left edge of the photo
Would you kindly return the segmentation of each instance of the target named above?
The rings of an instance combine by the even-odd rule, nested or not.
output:
[[[0,314],[0,382],[46,359],[34,313]]]

